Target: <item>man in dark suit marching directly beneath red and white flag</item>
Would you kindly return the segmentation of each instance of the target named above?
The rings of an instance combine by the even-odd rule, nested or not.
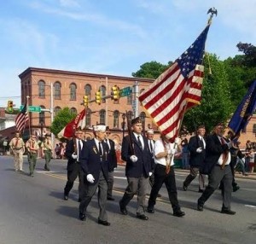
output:
[[[82,140],[83,131],[77,128],[74,132],[72,140],[67,142],[65,156],[67,158],[67,183],[64,189],[64,200],[68,200],[70,190],[73,188],[73,183],[79,177],[79,199],[84,187],[84,174],[80,165],[80,152],[84,148]]]

